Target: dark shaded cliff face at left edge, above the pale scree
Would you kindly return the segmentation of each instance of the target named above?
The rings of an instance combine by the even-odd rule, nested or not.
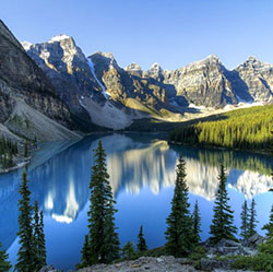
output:
[[[17,103],[41,113],[59,126],[74,127],[69,108],[56,94],[50,80],[0,21],[0,122],[7,128],[10,128]],[[16,115],[16,120],[22,125],[25,117]],[[21,133],[24,132],[22,128]]]

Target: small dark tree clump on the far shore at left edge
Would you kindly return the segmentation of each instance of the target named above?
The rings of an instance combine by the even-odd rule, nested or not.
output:
[[[17,143],[5,139],[3,135],[0,138],[0,163],[2,169],[14,166],[13,156],[19,153]]]

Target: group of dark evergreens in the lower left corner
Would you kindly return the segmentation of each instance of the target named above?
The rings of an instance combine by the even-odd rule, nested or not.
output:
[[[31,191],[26,173],[23,173],[20,185],[19,200],[19,244],[17,262],[14,271],[38,272],[46,265],[46,241],[44,234],[44,214],[38,209],[38,202],[31,204]],[[0,243],[1,247],[1,243]],[[5,250],[0,250],[0,271],[9,272],[12,268]]]

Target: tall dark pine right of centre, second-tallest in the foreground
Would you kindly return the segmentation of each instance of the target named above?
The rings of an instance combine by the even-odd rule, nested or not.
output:
[[[189,211],[189,192],[186,184],[186,163],[180,154],[171,212],[167,217],[166,250],[175,257],[187,257],[193,248],[192,220]]]

